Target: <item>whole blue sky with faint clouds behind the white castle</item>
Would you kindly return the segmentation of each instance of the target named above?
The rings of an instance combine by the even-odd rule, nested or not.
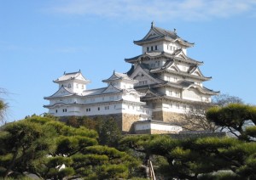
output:
[[[188,56],[204,61],[204,85],[256,104],[255,0],[0,0],[0,87],[8,96],[7,121],[47,112],[52,81],[81,70],[88,88],[104,87],[133,44],[154,25],[189,42]]]

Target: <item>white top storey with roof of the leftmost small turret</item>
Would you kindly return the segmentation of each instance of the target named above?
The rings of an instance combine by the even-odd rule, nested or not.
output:
[[[59,88],[66,87],[69,91],[73,93],[81,94],[86,90],[86,85],[90,81],[86,80],[82,75],[81,71],[66,73],[54,81],[59,84]]]

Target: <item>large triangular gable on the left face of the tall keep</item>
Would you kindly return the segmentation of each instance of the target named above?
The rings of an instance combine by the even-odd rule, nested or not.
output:
[[[137,65],[137,68],[132,72],[130,78],[137,81],[149,80],[148,84],[160,83],[160,80],[150,76],[140,65]]]

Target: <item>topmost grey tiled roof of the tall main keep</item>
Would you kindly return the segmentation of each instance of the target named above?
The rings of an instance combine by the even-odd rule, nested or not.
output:
[[[143,39],[141,39],[141,40],[134,41],[134,43],[137,45],[143,45],[144,43],[147,43],[147,42],[155,42],[155,41],[160,41],[160,40],[166,40],[169,42],[178,42],[185,47],[194,46],[194,43],[187,42],[187,41],[183,40],[181,37],[178,37],[176,30],[167,31],[160,27],[154,26],[153,23],[152,23],[151,28],[148,31],[147,35],[145,37],[143,37]]]

